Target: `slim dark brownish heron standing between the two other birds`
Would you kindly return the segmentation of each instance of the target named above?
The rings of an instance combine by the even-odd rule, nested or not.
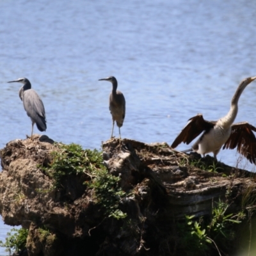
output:
[[[124,118],[125,118],[125,99],[124,99],[124,94],[120,91],[117,91],[117,81],[116,78],[113,76],[109,76],[106,78],[99,79],[99,81],[109,81],[112,83],[113,88],[112,92],[109,95],[109,110],[112,115],[112,120],[113,120],[113,127],[112,127],[112,132],[111,132],[111,138],[113,138],[113,130],[114,130],[114,125],[116,121],[116,125],[118,126],[119,129],[119,136],[121,140],[121,132],[120,132],[120,127],[122,127],[124,123]]]

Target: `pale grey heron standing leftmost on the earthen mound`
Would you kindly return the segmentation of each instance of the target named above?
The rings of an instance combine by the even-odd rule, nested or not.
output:
[[[31,83],[25,77],[19,78],[8,83],[22,83],[23,85],[19,90],[19,97],[23,102],[24,109],[27,112],[27,115],[32,121],[32,131],[31,131],[31,140],[33,136],[33,127],[36,124],[39,131],[46,130],[46,119],[45,119],[45,109],[44,104],[38,94],[31,88]]]

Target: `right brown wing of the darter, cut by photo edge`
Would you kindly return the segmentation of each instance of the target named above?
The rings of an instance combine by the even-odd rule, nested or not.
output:
[[[253,131],[256,132],[256,128],[248,122],[232,124],[231,134],[223,149],[237,147],[239,154],[256,164],[256,138]]]

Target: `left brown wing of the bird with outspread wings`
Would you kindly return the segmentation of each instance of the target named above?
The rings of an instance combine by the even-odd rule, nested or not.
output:
[[[180,143],[184,142],[189,144],[193,141],[201,132],[207,131],[214,127],[216,122],[206,121],[202,114],[197,114],[188,120],[188,124],[182,129],[180,134],[172,143],[172,148],[177,147]]]

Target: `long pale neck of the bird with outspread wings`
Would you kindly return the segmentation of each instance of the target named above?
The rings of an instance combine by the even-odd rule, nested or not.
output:
[[[238,100],[247,85],[248,83],[244,83],[244,81],[242,81],[237,87],[237,90],[231,100],[230,110],[228,111],[226,116],[220,119],[222,127],[229,128],[234,123],[238,112]]]

